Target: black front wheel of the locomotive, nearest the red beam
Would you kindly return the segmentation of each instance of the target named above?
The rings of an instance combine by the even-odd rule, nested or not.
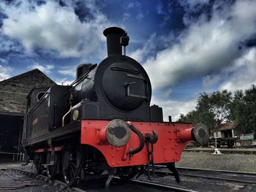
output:
[[[64,150],[62,156],[62,173],[65,183],[67,183],[69,187],[78,184],[83,163],[81,149],[76,148],[76,150]]]

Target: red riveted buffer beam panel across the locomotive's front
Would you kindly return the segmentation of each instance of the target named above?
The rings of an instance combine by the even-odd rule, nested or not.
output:
[[[105,156],[108,165],[112,167],[147,164],[148,153],[146,143],[140,153],[136,153],[130,159],[129,154],[127,155],[131,147],[135,149],[139,145],[139,138],[132,131],[129,142],[123,147],[113,147],[108,143],[100,142],[99,131],[105,128],[109,122],[110,120],[82,120],[81,144],[96,147]],[[188,128],[191,129],[192,123],[132,122],[132,124],[142,132],[144,137],[147,133],[151,134],[152,131],[157,132],[158,141],[154,144],[155,164],[176,162],[181,159],[181,153],[189,141],[178,139],[178,133]]]

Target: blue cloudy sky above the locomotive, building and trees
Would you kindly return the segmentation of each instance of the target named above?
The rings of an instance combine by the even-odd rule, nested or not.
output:
[[[0,80],[39,69],[70,84],[76,66],[107,57],[110,26],[127,31],[127,55],[148,72],[165,120],[193,110],[200,93],[256,84],[253,0],[1,0]]]

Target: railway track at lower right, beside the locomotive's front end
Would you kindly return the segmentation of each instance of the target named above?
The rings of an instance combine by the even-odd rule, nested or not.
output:
[[[167,170],[166,166],[156,167],[154,182],[168,183],[168,185],[192,191],[256,191],[256,174],[253,173],[184,167],[177,169],[181,177],[181,183],[173,182],[173,174]],[[170,179],[167,180],[167,177]],[[145,177],[139,179],[146,180]]]

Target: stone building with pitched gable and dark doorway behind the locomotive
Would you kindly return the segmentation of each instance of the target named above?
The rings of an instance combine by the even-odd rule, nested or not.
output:
[[[32,88],[56,85],[39,69],[0,82],[0,160],[18,153],[26,113],[26,96]]]

